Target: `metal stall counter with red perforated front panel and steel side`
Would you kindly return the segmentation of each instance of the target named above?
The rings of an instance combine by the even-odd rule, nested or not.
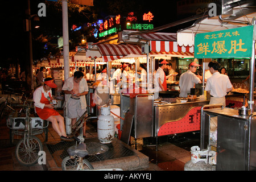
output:
[[[135,138],[160,137],[177,133],[200,130],[200,110],[208,100],[154,104],[153,94],[138,94],[130,98],[128,94],[121,94],[121,118],[126,113],[134,115],[131,135]],[[123,119],[121,119],[121,130]]]

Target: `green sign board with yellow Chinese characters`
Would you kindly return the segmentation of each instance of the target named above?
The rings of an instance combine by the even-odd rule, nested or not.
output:
[[[195,58],[251,57],[253,26],[196,34]]]

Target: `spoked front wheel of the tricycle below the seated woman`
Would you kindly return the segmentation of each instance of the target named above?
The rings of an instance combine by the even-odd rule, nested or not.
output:
[[[42,142],[35,136],[20,139],[15,148],[15,157],[24,166],[32,166],[38,162],[38,152],[43,150]]]

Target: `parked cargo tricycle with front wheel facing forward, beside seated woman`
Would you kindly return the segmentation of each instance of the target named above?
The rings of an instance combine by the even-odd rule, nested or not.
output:
[[[34,107],[28,105],[15,105],[21,106],[26,110],[25,118],[8,118],[7,126],[10,127],[16,135],[22,135],[23,138],[19,140],[15,147],[15,157],[18,162],[24,166],[32,166],[38,162],[39,151],[43,151],[41,140],[34,135],[43,133],[43,129],[48,127],[44,126],[44,120],[40,118],[31,118],[30,109]],[[23,131],[20,131],[23,130]]]

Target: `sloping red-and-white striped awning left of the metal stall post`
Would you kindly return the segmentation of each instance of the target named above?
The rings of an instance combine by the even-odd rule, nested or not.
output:
[[[135,45],[98,44],[97,46],[104,61],[113,61],[131,55],[134,57],[142,55],[141,48]]]

